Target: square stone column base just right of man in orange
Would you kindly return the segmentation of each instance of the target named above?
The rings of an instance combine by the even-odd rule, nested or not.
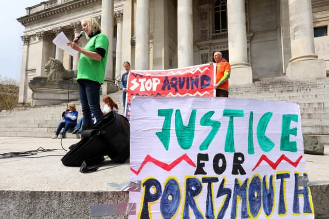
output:
[[[248,63],[243,65],[231,65],[231,76],[229,78],[230,85],[236,84],[252,84],[252,69]]]

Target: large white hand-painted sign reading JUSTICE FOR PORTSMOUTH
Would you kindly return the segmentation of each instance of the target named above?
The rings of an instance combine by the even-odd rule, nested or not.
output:
[[[299,105],[137,97],[129,218],[314,218]]]

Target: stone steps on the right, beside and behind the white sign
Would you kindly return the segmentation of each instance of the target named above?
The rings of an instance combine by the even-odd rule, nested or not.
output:
[[[230,86],[229,97],[297,102],[300,104],[302,132],[329,144],[329,78],[291,81],[266,78],[252,85]]]

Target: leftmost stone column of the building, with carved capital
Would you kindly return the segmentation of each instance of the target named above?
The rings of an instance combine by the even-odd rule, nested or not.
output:
[[[21,65],[21,76],[20,76],[20,90],[19,90],[19,105],[23,105],[27,100],[27,62],[28,62],[28,53],[29,53],[29,42],[30,36],[24,35],[21,36],[23,41],[23,55],[22,55],[22,65]]]

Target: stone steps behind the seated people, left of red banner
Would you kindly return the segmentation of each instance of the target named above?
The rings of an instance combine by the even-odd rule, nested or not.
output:
[[[119,113],[123,113],[122,91],[109,94],[118,104]],[[79,101],[73,101],[79,112],[78,120],[82,117]],[[102,102],[102,101],[101,101]],[[0,112],[0,136],[12,137],[51,137],[61,122],[62,111],[67,103],[42,107],[17,107],[13,110]],[[101,103],[101,108],[104,104]],[[67,138],[79,135],[66,133]]]

